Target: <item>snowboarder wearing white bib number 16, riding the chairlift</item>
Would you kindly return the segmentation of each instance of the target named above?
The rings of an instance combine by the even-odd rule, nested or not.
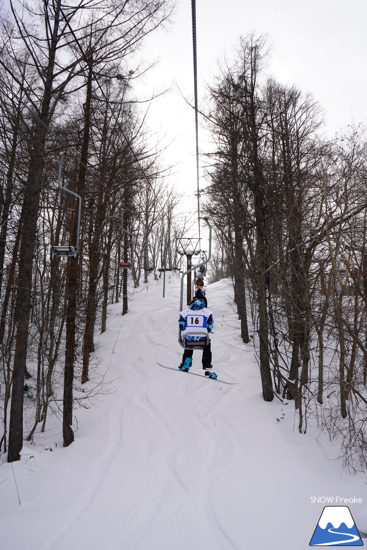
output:
[[[204,300],[191,300],[190,305],[184,311],[180,311],[179,325],[187,342],[204,342],[205,334],[208,334],[213,329],[213,316],[209,309],[206,309]],[[197,333],[198,335],[195,335]],[[182,356],[180,368],[189,370],[193,361],[193,350],[185,349]],[[211,365],[211,349],[209,344],[202,349],[202,368],[208,370],[213,368]]]

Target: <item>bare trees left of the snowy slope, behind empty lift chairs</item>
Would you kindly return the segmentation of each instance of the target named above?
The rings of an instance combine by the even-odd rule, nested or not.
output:
[[[124,315],[128,279],[136,288],[176,267],[185,220],[173,218],[179,196],[134,97],[134,79],[149,67],[130,65],[171,12],[166,0],[107,0],[10,4],[2,14],[0,454],[8,461],[54,412],[64,446],[73,442],[73,403],[101,391],[83,384],[107,305],[122,301]],[[78,199],[58,188],[59,164],[61,185],[82,205],[79,254],[68,258],[51,250],[75,248],[78,230]]]

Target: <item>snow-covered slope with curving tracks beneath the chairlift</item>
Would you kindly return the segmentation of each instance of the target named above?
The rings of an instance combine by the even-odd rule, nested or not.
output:
[[[13,464],[21,506],[11,465],[0,466],[4,550],[303,550],[325,505],[311,497],[367,502],[365,476],[341,475],[312,426],[300,435],[292,403],[262,400],[226,281],[207,289],[213,370],[238,384],[156,365],[178,366],[182,354],[179,280],[167,283],[164,299],[161,282],[137,289],[124,317],[110,307],[96,337],[110,393],[76,410],[69,448],[61,435],[25,443]],[[202,373],[198,351],[193,371]]]

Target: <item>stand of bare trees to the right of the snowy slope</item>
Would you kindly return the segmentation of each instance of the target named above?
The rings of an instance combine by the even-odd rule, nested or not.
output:
[[[264,399],[292,400],[299,432],[311,419],[341,442],[344,465],[361,469],[367,134],[358,124],[325,139],[314,98],[266,77],[268,53],[264,37],[243,38],[207,88],[211,280],[233,280]]]

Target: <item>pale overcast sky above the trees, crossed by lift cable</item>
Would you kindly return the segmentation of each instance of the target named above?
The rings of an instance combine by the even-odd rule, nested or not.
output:
[[[364,0],[196,0],[199,105],[217,60],[231,54],[240,35],[266,32],[272,45],[267,72],[284,84],[311,92],[325,109],[328,135],[367,118],[367,3]],[[193,97],[191,2],[180,0],[168,32],[150,36],[140,52],[157,65],[135,86],[138,96],[176,82]],[[175,164],[173,180],[192,195],[196,189],[194,112],[177,88],[155,101],[150,131],[168,145],[165,161]],[[200,131],[200,130],[199,130]],[[199,148],[208,150],[200,131]],[[201,186],[205,187],[204,180]]]

